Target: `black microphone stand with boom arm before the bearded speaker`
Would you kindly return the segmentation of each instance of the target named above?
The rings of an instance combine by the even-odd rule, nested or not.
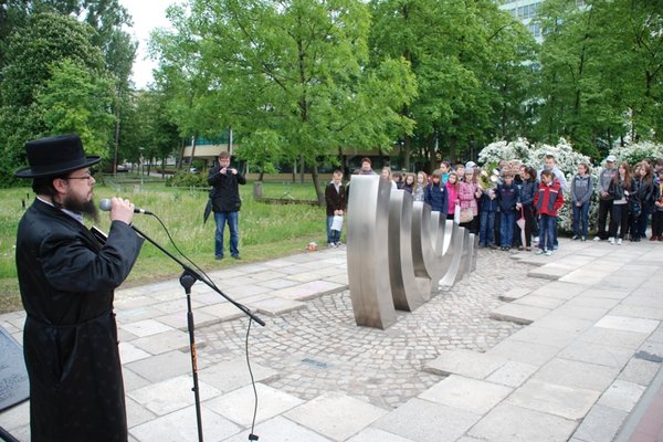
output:
[[[196,283],[196,281],[203,282],[208,287],[223,296],[228,302],[238,307],[240,311],[244,312],[246,316],[251,319],[255,320],[257,324],[265,326],[264,320],[255,316],[245,305],[238,303],[236,301],[229,297],[225,293],[221,292],[214,284],[212,284],[207,277],[203,277],[199,272],[189,265],[185,264],[180,259],[175,256],[172,253],[164,249],[159,243],[155,240],[143,233],[138,228],[131,225],[131,229],[140,236],[145,238],[151,244],[154,244],[157,249],[164,252],[168,257],[178,263],[183,272],[180,275],[180,284],[185,288],[185,293],[187,294],[187,325],[189,328],[189,348],[191,352],[191,372],[193,377],[193,397],[196,398],[196,420],[198,423],[198,441],[202,442],[202,414],[200,410],[200,391],[198,388],[198,362],[196,358],[196,336],[194,336],[194,324],[193,324],[193,311],[191,308],[191,286]]]

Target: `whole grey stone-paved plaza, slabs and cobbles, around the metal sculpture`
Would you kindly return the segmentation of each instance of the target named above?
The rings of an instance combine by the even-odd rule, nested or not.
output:
[[[661,244],[482,250],[475,273],[387,330],[355,326],[344,249],[210,275],[267,323],[249,336],[261,441],[655,441],[663,428]],[[246,441],[248,319],[201,283],[192,299],[204,439]],[[178,281],[120,290],[116,309],[129,439],[196,441]],[[23,320],[0,315],[19,341]],[[29,441],[28,404],[0,427]]]

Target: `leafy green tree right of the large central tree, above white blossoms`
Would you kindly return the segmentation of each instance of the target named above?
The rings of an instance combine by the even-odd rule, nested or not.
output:
[[[402,135],[406,165],[413,141],[430,169],[442,158],[472,156],[472,147],[523,124],[530,82],[525,61],[533,39],[494,2],[373,0],[371,50],[402,56],[412,66],[419,95],[401,108],[413,118]]]

